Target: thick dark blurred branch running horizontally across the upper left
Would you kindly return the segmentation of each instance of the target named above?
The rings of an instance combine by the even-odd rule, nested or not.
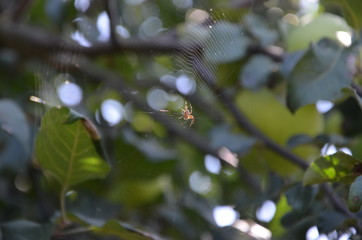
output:
[[[57,52],[77,53],[89,57],[133,52],[138,54],[177,54],[191,51],[197,46],[174,41],[174,33],[147,40],[122,39],[118,44],[94,43],[91,47],[80,46],[71,39],[64,39],[36,27],[12,22],[0,22],[0,46],[18,50],[23,55],[43,57]]]

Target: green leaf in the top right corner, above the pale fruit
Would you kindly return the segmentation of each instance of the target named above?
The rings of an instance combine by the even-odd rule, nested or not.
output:
[[[362,1],[360,0],[323,0],[324,5],[333,4],[339,5],[343,11],[343,15],[348,24],[355,30],[359,31],[362,28]]]

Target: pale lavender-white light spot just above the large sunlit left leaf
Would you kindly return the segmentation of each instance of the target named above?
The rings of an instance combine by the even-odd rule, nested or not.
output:
[[[78,105],[83,98],[82,89],[77,84],[69,81],[60,84],[57,93],[60,101],[69,107]]]

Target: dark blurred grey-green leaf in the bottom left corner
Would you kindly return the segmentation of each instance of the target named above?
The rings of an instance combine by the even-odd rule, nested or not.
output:
[[[49,240],[52,224],[40,225],[27,220],[15,220],[0,224],[2,239],[11,240]]]

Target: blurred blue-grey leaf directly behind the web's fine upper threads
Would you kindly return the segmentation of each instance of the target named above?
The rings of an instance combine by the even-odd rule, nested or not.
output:
[[[219,21],[210,25],[210,34],[205,43],[204,57],[210,63],[227,63],[241,59],[250,40],[242,28],[233,23]]]

